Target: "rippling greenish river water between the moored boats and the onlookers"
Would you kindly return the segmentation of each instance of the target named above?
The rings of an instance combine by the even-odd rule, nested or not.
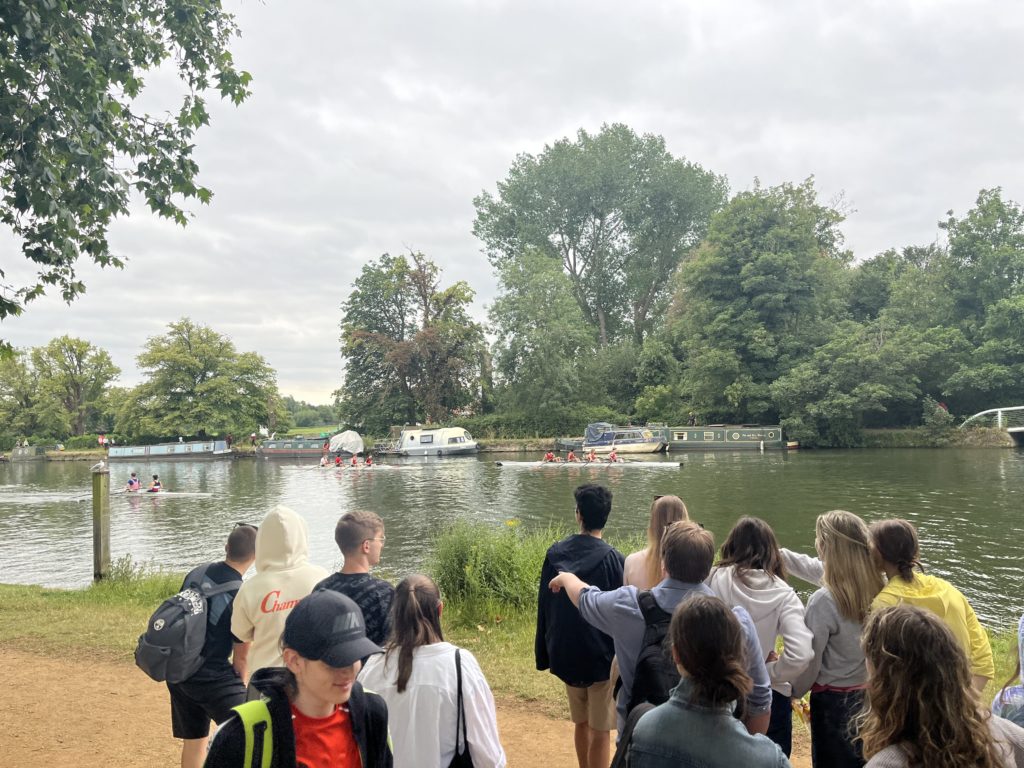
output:
[[[676,494],[721,543],[740,515],[762,517],[783,546],[813,552],[814,519],[847,509],[874,520],[912,520],[930,572],[968,595],[982,621],[1006,626],[1024,607],[1024,451],[871,450],[676,454],[676,469],[498,467],[522,456],[390,462],[394,469],[321,470],[266,460],[115,463],[111,486],[135,469],[158,472],[172,490],[210,498],[111,500],[112,556],[185,570],[222,556],[237,521],[258,523],[275,504],[309,523],[310,556],[340,565],[334,524],[347,510],[377,512],[387,525],[384,564],[392,574],[420,567],[445,523],[467,518],[524,527],[572,521],[572,489],[607,484],[608,531],[642,531],[651,498]],[[86,462],[0,464],[0,581],[79,587],[92,574],[91,480]],[[81,500],[81,501],[79,501]]]

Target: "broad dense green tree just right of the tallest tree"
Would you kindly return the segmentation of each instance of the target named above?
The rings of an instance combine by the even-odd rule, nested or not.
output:
[[[678,392],[703,418],[775,418],[769,385],[824,343],[845,309],[841,221],[811,180],[755,186],[713,218],[672,314]]]

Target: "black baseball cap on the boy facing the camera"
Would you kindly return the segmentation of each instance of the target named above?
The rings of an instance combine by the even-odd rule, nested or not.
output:
[[[351,667],[384,649],[367,638],[362,611],[351,598],[318,590],[302,598],[285,620],[286,647],[329,667]]]

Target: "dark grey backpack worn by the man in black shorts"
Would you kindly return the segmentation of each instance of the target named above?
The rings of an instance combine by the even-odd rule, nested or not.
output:
[[[160,604],[135,646],[135,665],[157,682],[180,683],[203,666],[208,601],[237,590],[242,582],[207,581],[209,565],[185,578],[185,588]]]

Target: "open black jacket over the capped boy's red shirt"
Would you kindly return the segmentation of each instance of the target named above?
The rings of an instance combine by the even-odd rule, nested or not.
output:
[[[295,731],[292,730],[292,710],[285,691],[285,670],[267,668],[253,674],[251,685],[266,699],[273,730],[271,768],[296,768]],[[376,693],[362,690],[355,682],[348,699],[352,732],[359,746],[362,768],[391,768],[391,744],[387,730],[387,705]],[[210,743],[205,768],[250,768],[244,765],[246,736],[239,716],[234,715],[217,731]],[[253,765],[259,766],[254,754]]]

